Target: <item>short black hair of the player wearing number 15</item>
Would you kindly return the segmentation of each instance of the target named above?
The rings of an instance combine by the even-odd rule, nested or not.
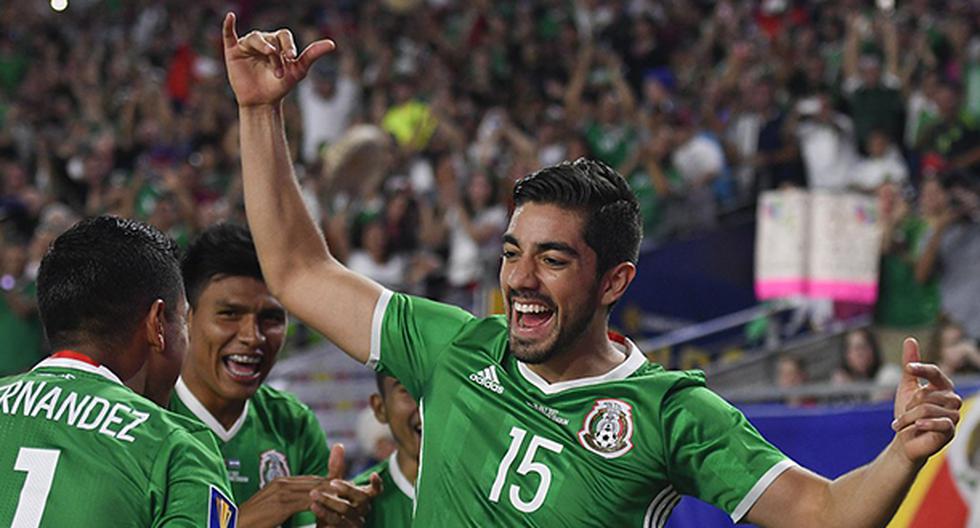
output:
[[[585,214],[585,243],[596,253],[601,276],[640,257],[640,206],[626,178],[601,161],[579,158],[546,167],[514,186],[514,205],[555,204]]]

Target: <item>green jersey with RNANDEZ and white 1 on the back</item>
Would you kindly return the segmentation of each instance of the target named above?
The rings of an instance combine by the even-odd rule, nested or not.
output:
[[[0,526],[233,527],[203,428],[109,369],[48,358],[0,380]]]

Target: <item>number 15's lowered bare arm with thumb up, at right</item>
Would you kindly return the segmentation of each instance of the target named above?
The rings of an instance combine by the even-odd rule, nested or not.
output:
[[[918,343],[906,339],[895,396],[895,439],[870,464],[834,481],[794,467],[780,475],[749,510],[760,526],[884,526],[926,460],[953,438],[961,400],[935,365],[919,363]],[[920,386],[918,379],[928,384]]]

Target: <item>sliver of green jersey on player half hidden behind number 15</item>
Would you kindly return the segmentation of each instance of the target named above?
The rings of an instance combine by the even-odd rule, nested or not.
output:
[[[371,474],[381,477],[381,495],[371,501],[364,528],[408,528],[412,525],[412,503],[415,501],[415,485],[409,482],[398,466],[396,453],[379,462],[354,478],[354,484],[371,483]]]

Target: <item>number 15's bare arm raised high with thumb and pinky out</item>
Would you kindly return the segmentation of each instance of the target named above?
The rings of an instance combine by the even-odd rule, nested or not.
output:
[[[286,309],[365,363],[382,288],[330,254],[303,204],[282,117],[282,98],[334,43],[319,40],[298,54],[285,29],[238,38],[230,13],[223,41],[241,121],[245,212],[266,284]]]

